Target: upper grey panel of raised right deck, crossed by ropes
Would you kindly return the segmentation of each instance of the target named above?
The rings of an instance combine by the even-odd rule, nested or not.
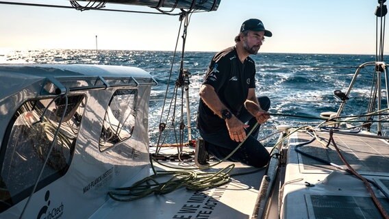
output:
[[[320,133],[319,137],[327,142],[329,133]],[[311,138],[311,136],[299,134],[299,142],[308,141]],[[347,162],[360,174],[389,176],[389,144],[384,140],[342,134],[334,134],[334,140]],[[347,168],[336,153],[334,146],[325,148],[318,141],[314,141],[307,146],[301,146],[299,149]],[[335,170],[331,166],[324,165],[303,155],[299,155],[299,163],[302,165],[303,172],[320,172],[327,168]]]

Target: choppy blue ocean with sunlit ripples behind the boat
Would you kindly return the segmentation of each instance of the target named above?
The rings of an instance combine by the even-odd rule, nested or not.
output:
[[[190,73],[189,103],[193,139],[199,137],[195,127],[199,88],[214,53],[189,51],[184,55],[184,68]],[[158,85],[152,88],[150,99],[149,137],[153,145],[158,141],[160,121],[176,131],[179,130],[180,120],[186,124],[186,105],[181,107],[181,103],[186,103],[186,98],[181,98],[181,88],[178,91],[178,99],[171,101],[179,73],[181,53],[176,54],[174,62],[173,56],[173,51],[32,50],[1,53],[0,63],[105,64],[136,66],[147,70],[158,81]],[[269,112],[313,117],[320,116],[321,112],[336,112],[340,99],[334,95],[334,90],[346,92],[357,66],[364,62],[375,61],[375,55],[258,53],[251,57],[255,61],[257,70],[256,92],[271,99]],[[171,69],[172,74],[170,74]],[[373,67],[361,70],[342,115],[366,113],[371,85],[376,80],[374,76]],[[386,96],[384,76],[382,81],[382,94]],[[164,103],[166,105],[162,114]],[[168,116],[168,110],[173,112],[173,108],[169,107],[171,103],[176,103],[177,106],[174,116],[173,114]],[[385,108],[385,97],[382,104],[382,108]],[[184,116],[181,116],[182,112]],[[277,125],[299,127],[321,123],[321,120],[294,116],[272,116],[268,123],[262,125],[260,139],[274,133]],[[384,123],[384,133],[388,129],[386,124]],[[277,137],[266,138],[263,143],[272,144],[275,138]],[[168,137],[166,143],[173,143],[169,141],[174,139],[175,136]]]

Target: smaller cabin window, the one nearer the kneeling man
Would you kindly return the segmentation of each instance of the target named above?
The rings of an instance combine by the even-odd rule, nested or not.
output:
[[[135,89],[116,90],[112,96],[101,129],[99,142],[101,152],[131,138],[135,126],[137,96],[138,91]]]

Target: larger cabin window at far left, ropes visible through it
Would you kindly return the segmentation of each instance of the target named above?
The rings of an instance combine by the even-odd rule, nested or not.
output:
[[[64,97],[27,101],[19,107],[1,144],[0,212],[27,198],[37,181],[36,191],[65,175],[73,158],[84,104],[83,95],[74,95],[68,96],[67,107]]]

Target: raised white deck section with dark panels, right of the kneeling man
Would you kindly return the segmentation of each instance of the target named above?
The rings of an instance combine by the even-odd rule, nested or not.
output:
[[[318,136],[327,140],[329,133]],[[364,183],[352,175],[297,153],[298,144],[308,142],[307,133],[290,138],[281,218],[381,218]],[[389,194],[389,144],[385,140],[334,134],[334,140],[347,162],[366,179],[375,181]],[[327,141],[325,141],[327,142]],[[347,168],[334,146],[325,148],[318,141],[299,149],[333,164]],[[389,201],[374,188],[386,211]]]

